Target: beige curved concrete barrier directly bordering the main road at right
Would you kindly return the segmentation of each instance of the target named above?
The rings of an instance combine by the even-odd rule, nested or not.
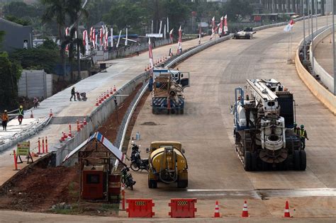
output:
[[[336,96],[322,86],[316,79],[303,67],[298,57],[299,50],[295,56],[295,67],[298,76],[300,76],[303,83],[309,88],[311,93],[320,100],[325,107],[327,107],[334,115],[336,115]]]

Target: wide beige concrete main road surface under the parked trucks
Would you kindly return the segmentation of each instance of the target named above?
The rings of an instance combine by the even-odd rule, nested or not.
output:
[[[319,18],[320,24],[325,24]],[[262,30],[253,40],[228,40],[190,57],[179,64],[180,71],[191,72],[191,87],[185,90],[184,115],[153,115],[151,98],[147,98],[133,128],[140,132],[142,158],[152,141],[179,141],[186,149],[189,164],[188,190],[176,185],[147,186],[147,173],[135,173],[135,190],[128,198],[153,198],[157,216],[167,215],[170,198],[198,198],[198,216],[213,214],[215,200],[223,205],[226,216],[239,216],[245,199],[254,202],[254,216],[279,216],[286,199],[295,202],[296,217],[336,217],[335,193],[316,199],[313,193],[295,197],[300,188],[336,188],[336,118],[303,84],[294,64],[286,64],[289,33],[284,27]],[[302,23],[293,29],[293,51],[302,39]],[[304,124],[309,141],[306,146],[306,171],[245,172],[233,145],[234,88],[244,86],[245,79],[277,79],[294,93],[296,122]],[[146,125],[155,122],[155,125]],[[269,200],[248,194],[230,197],[218,190],[290,189]],[[293,189],[293,194],[291,193]],[[330,206],[328,206],[329,204]],[[225,207],[230,208],[225,208]],[[123,214],[121,214],[123,215]],[[281,215],[280,215],[281,216]]]

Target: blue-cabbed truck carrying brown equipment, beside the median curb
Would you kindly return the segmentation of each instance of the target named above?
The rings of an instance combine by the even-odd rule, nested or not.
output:
[[[169,113],[184,113],[184,88],[189,87],[189,72],[156,68],[153,69],[152,84],[152,113],[162,111]]]

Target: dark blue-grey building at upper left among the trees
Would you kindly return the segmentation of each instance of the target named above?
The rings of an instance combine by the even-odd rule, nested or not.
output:
[[[33,28],[0,18],[0,30],[4,30],[4,41],[0,50],[11,52],[15,49],[33,47]]]

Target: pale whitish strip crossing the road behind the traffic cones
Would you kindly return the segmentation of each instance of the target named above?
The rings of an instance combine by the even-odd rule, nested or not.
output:
[[[254,198],[269,200],[269,198],[302,198],[302,197],[336,197],[336,188],[305,188],[305,189],[257,189],[257,190],[201,190],[187,189],[174,191],[181,198]]]

